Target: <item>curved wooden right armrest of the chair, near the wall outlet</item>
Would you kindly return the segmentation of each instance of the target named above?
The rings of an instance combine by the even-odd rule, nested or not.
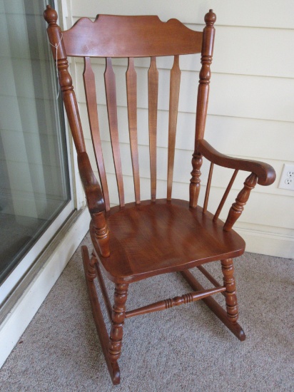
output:
[[[197,150],[198,153],[201,153],[201,155],[216,165],[253,172],[258,177],[259,185],[270,185],[275,181],[275,170],[267,163],[258,162],[257,160],[232,158],[218,153],[206,140],[198,141]]]

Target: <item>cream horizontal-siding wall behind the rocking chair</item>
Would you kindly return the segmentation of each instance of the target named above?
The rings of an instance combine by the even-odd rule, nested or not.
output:
[[[250,195],[248,206],[235,225],[247,242],[247,250],[280,257],[293,257],[294,253],[294,192],[278,189],[283,163],[293,163],[293,92],[294,92],[294,54],[290,51],[294,38],[294,21],[290,18],[294,4],[290,0],[233,1],[216,0],[192,1],[106,1],[71,0],[68,2],[71,23],[79,17],[93,18],[96,14],[158,14],[162,21],[176,17],[191,29],[203,29],[203,16],[209,8],[217,15],[214,61],[211,66],[211,96],[208,106],[206,139],[222,153],[239,158],[264,160],[273,165],[277,180],[270,187],[257,186]],[[116,61],[117,90],[126,91],[124,73],[126,61]],[[86,143],[91,146],[87,124],[86,100],[83,93],[81,73],[83,63],[72,64],[76,71],[75,80],[81,117],[84,120]],[[138,73],[138,128],[139,154],[148,150],[147,117],[147,71],[148,61],[137,61]],[[167,156],[168,112],[162,103],[163,91],[168,91],[171,59],[158,61],[159,97],[158,106],[158,196],[166,195],[166,166],[161,165],[161,157]],[[103,61],[93,66],[103,71]],[[191,171],[193,150],[193,129],[195,122],[196,99],[186,100],[191,86],[198,84],[200,69],[199,56],[181,60],[183,88],[180,96],[178,115],[178,135],[176,141],[176,165],[174,173],[173,197],[188,198],[188,181]],[[103,72],[102,72],[103,73]],[[101,137],[106,148],[104,159],[110,182],[115,185],[113,163],[111,163],[110,139],[105,107],[101,90],[103,78],[98,78],[98,112],[100,115]],[[126,115],[126,96],[118,96],[118,126],[121,140],[123,175],[128,190],[126,201],[133,200],[131,179],[131,158],[128,146],[128,123]],[[186,134],[181,133],[181,128]],[[188,130],[191,132],[187,133]],[[108,153],[107,153],[108,151]],[[91,156],[95,167],[93,155]],[[150,172],[146,163],[141,163],[141,198],[149,198]],[[201,200],[206,187],[208,165],[203,164]],[[184,175],[183,175],[184,173]],[[230,203],[243,187],[247,173],[239,173],[231,191],[226,209],[220,215],[225,219]],[[216,210],[220,197],[228,184],[230,170],[216,168],[213,175],[210,210]],[[111,202],[118,203],[117,191],[111,191]]]

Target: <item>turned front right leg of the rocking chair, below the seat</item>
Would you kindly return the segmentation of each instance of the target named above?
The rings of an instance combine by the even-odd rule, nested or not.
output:
[[[223,284],[225,285],[225,304],[227,308],[228,319],[235,323],[238,320],[238,303],[235,294],[235,278],[233,259],[221,260],[221,269],[223,271]]]

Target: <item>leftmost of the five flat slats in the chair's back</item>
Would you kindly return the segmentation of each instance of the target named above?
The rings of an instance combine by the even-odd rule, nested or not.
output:
[[[104,161],[103,161],[103,153],[101,148],[99,123],[98,123],[95,76],[91,68],[90,58],[88,57],[84,58],[83,84],[85,87],[86,103],[87,103],[87,110],[88,110],[88,122],[90,124],[93,150],[95,153],[100,182],[102,185],[105,208],[106,211],[108,211],[110,209],[110,202],[109,202],[109,195],[108,195],[106,172],[105,172]]]

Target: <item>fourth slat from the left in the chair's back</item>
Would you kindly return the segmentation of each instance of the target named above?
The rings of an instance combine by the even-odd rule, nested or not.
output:
[[[149,121],[149,148],[150,148],[150,174],[151,174],[151,200],[156,200],[156,133],[157,133],[157,106],[158,106],[158,70],[156,58],[151,57],[148,70],[148,121]]]

